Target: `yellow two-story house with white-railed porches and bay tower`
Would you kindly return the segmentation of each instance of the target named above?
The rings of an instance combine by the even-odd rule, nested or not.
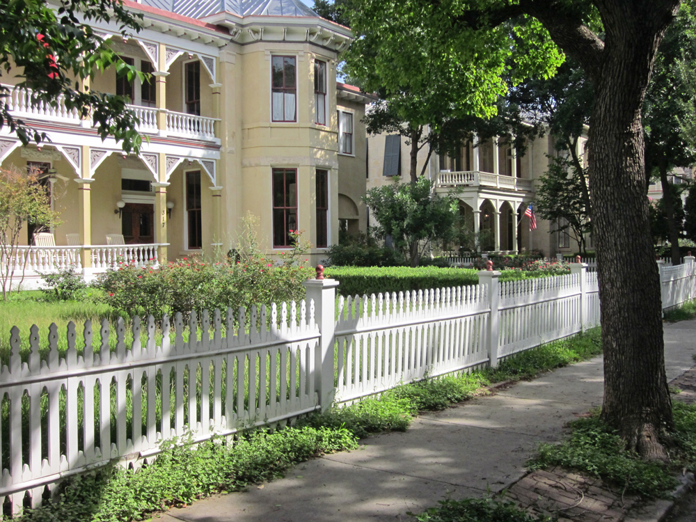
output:
[[[227,253],[248,212],[267,253],[291,248],[289,231],[303,230],[313,263],[338,242],[340,223],[365,230],[360,120],[372,98],[336,82],[349,29],[300,0],[124,5],[143,15],[132,38],[93,26],[152,81],[112,69],[88,87],[127,95],[148,141],[125,155],[90,120],[32,106],[14,88],[10,110],[49,141],[22,147],[3,127],[0,165],[38,168],[62,221],[40,237],[28,227],[15,262],[31,273],[74,263],[91,276],[117,259]]]

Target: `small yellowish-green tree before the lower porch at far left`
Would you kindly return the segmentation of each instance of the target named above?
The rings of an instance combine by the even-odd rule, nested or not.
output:
[[[0,170],[0,280],[3,300],[12,292],[12,281],[17,270],[19,235],[26,223],[37,228],[58,224],[58,213],[52,211],[49,193],[39,183],[36,171],[24,173],[17,169]],[[26,262],[22,264],[24,280]],[[17,285],[17,287],[19,287]]]

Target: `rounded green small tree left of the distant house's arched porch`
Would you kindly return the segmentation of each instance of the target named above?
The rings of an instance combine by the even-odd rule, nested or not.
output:
[[[451,239],[457,220],[457,201],[438,196],[425,177],[415,183],[376,187],[367,191],[365,203],[379,221],[378,237],[391,236],[395,248],[418,266],[418,259],[434,241]]]

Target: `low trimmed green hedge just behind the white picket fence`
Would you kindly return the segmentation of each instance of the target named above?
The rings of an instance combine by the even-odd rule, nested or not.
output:
[[[342,296],[406,292],[478,284],[478,271],[438,267],[329,267],[324,275],[340,282]],[[521,271],[503,271],[500,280],[544,277]]]

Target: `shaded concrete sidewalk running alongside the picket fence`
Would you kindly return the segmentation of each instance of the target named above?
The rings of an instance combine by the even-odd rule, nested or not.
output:
[[[667,380],[693,367],[696,320],[665,324]],[[540,441],[603,393],[601,357],[413,421],[405,433],[292,468],[284,479],[200,500],[162,522],[401,521],[446,497],[481,497],[519,480]]]

